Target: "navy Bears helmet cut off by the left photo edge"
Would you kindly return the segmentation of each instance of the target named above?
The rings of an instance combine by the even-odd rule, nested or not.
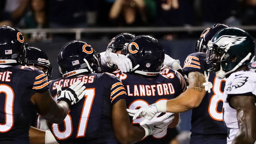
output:
[[[24,37],[9,26],[0,27],[0,64],[24,64],[26,56]]]

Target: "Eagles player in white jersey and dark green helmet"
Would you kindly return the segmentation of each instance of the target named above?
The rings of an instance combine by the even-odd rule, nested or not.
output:
[[[223,114],[228,144],[256,143],[256,73],[248,64],[254,56],[252,36],[239,28],[225,28],[207,44],[207,60],[219,79],[226,78]]]

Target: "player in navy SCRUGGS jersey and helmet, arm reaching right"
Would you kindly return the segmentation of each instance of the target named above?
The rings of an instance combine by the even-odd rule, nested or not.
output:
[[[90,44],[72,41],[58,54],[63,78],[53,80],[50,92],[65,89],[83,81],[86,95],[69,111],[63,122],[48,123],[60,144],[69,143],[133,143],[163,131],[172,121],[171,114],[149,121],[141,127],[132,126],[126,112],[126,92],[122,82],[110,73],[96,74],[100,58]]]

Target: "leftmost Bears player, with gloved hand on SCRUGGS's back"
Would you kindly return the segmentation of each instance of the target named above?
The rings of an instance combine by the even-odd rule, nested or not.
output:
[[[56,103],[46,75],[35,67],[19,65],[26,56],[22,33],[9,26],[1,26],[0,33],[0,143],[28,144],[36,111],[53,123],[62,121],[85,94],[83,83],[63,91]]]

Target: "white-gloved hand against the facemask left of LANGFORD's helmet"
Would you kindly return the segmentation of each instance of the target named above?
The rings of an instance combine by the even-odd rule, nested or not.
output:
[[[115,54],[107,49],[105,58],[109,64],[115,64],[121,72],[129,72],[132,69],[132,62],[125,55]]]

